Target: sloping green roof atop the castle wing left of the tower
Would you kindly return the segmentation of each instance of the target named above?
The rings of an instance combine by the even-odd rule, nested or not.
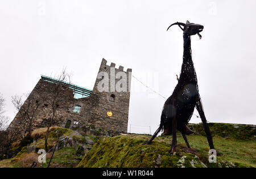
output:
[[[77,86],[76,84],[72,84],[72,83],[61,82],[60,80],[51,78],[49,76],[41,75],[41,78],[46,82],[62,84],[64,86],[69,87],[71,90],[73,90],[75,99],[80,99],[82,97],[89,97],[93,92],[92,90],[89,90],[87,88],[80,87],[80,86]]]

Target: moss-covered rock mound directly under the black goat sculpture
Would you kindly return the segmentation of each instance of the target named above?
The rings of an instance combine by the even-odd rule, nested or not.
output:
[[[203,167],[245,167],[224,157],[218,157],[217,163],[209,163],[208,152],[200,154],[200,150],[188,152],[182,144],[178,152],[170,155],[170,144],[154,140],[150,145],[143,135],[125,135],[101,138],[84,156],[77,167],[134,167],[134,168],[203,168]]]

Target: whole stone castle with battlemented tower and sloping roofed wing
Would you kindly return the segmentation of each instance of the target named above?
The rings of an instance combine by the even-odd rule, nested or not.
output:
[[[75,129],[79,126],[95,125],[110,132],[127,133],[131,69],[123,71],[122,66],[116,69],[114,63],[111,63],[110,66],[106,65],[106,63],[107,61],[102,59],[93,90],[71,83],[60,82],[57,79],[42,75],[30,95],[38,99],[43,96],[51,99],[53,97],[52,88],[54,85],[60,84],[64,87],[62,93],[65,99],[64,103],[72,106],[70,109],[60,108],[56,112],[52,126]],[[102,87],[105,87],[108,91],[102,91]],[[22,108],[26,108],[27,103],[28,99],[24,102]],[[44,101],[36,111],[32,130],[46,127],[50,116],[50,106],[47,101]],[[20,129],[26,125],[28,124],[24,124],[22,117],[17,113],[9,129],[15,129],[15,127]],[[26,127],[23,127],[23,132],[26,133]]]

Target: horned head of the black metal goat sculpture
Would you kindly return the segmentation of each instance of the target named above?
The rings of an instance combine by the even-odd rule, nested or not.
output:
[[[180,23],[180,22],[176,22],[171,24],[168,29],[172,26],[172,25],[179,25],[179,27],[181,28],[181,30],[183,31],[184,34],[188,35],[188,36],[192,36],[192,35],[199,35],[200,39],[202,38],[202,36],[200,35],[199,32],[202,32],[204,29],[203,25],[200,24],[195,24],[195,23],[190,23],[188,20],[187,22],[184,23]],[[183,26],[183,28],[181,27],[181,25]]]

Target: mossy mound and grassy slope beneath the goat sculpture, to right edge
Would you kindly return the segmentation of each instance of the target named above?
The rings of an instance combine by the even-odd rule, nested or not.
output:
[[[209,164],[206,137],[188,137],[191,147],[196,150],[195,155],[184,150],[185,142],[178,136],[178,152],[172,156],[168,153],[171,137],[157,137],[152,144],[141,145],[149,138],[148,135],[137,134],[102,138],[94,144],[78,167],[193,167],[192,160],[195,167],[203,167],[201,161],[208,167],[256,167],[255,142],[214,137],[220,156],[217,156],[217,164]],[[184,163],[179,162],[182,156],[185,156]]]

